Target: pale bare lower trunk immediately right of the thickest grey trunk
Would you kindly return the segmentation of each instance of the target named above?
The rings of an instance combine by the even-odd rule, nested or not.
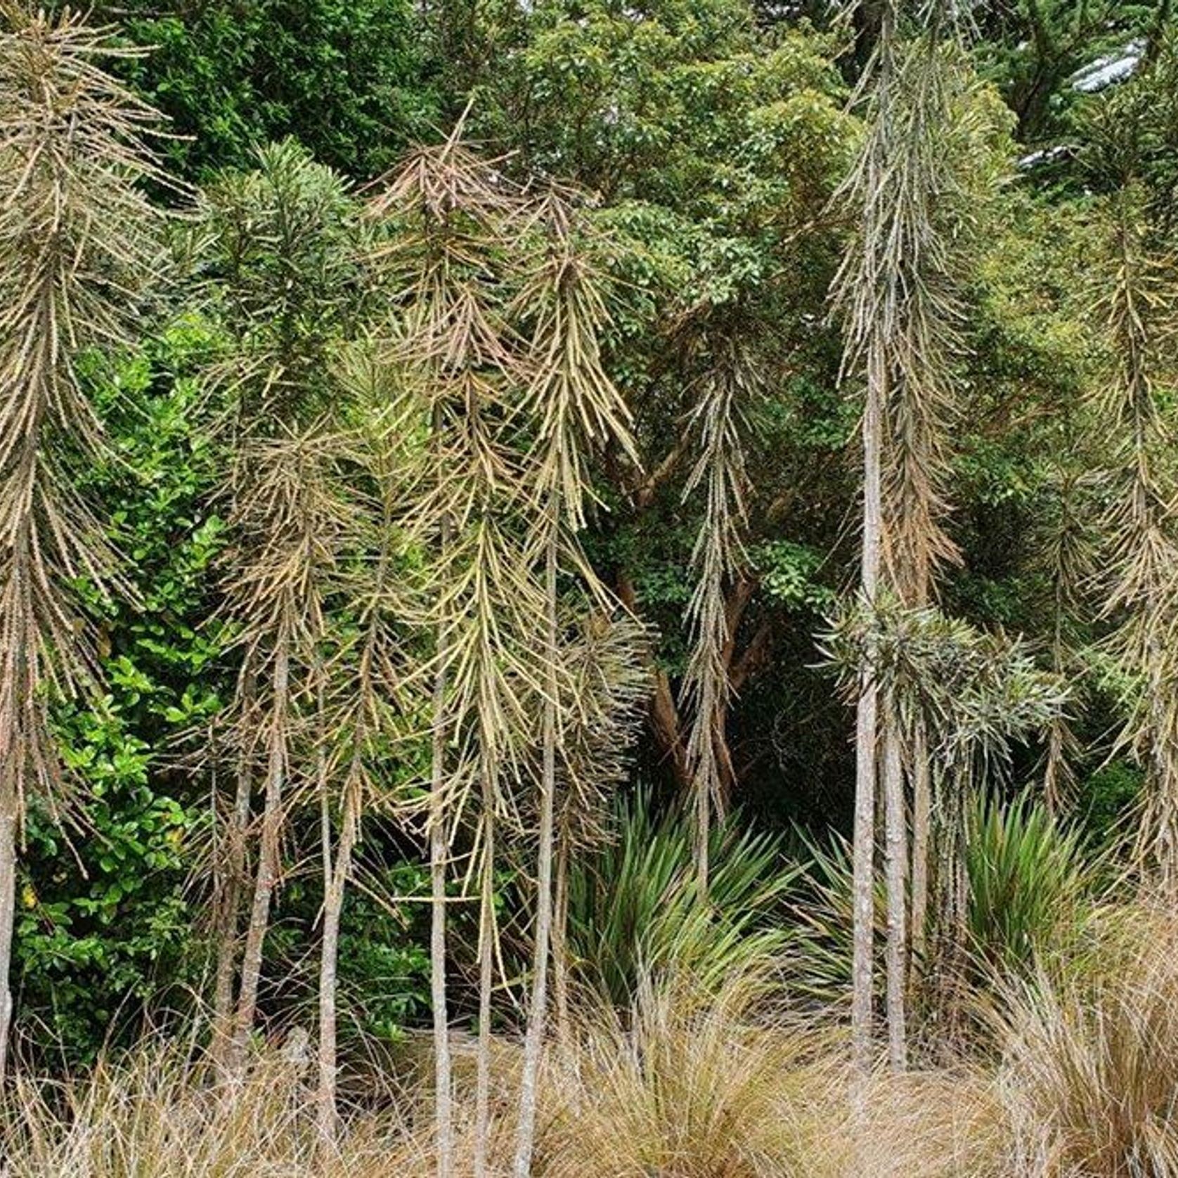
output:
[[[887,876],[887,1031],[888,1061],[894,1072],[908,1066],[905,997],[908,984],[907,928],[908,823],[904,806],[904,759],[895,712],[886,712],[884,735],[884,814]]]

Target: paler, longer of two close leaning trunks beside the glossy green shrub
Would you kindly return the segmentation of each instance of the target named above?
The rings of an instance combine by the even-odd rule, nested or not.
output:
[[[237,999],[233,1050],[230,1071],[240,1078],[246,1046],[253,1033],[258,1010],[258,986],[262,981],[263,948],[270,927],[270,902],[278,882],[278,861],[283,825],[283,790],[286,775],[286,709],[290,696],[290,650],[285,637],[274,654],[274,713],[270,734],[270,763],[266,770],[266,798],[262,814],[262,839],[258,847],[258,872],[253,885],[253,904],[241,954],[241,986]]]

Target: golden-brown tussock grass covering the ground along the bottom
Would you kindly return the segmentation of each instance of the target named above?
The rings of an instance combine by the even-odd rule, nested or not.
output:
[[[776,1008],[765,979],[702,995],[643,986],[583,1008],[543,1060],[537,1178],[1167,1178],[1178,1174],[1178,919],[1156,908],[1113,968],[999,997],[997,1052],[855,1083],[845,1032]],[[458,1050],[456,1174],[474,1172],[472,1076]],[[519,1050],[495,1053],[491,1174],[510,1173]],[[145,1047],[75,1081],[21,1079],[11,1178],[432,1178],[430,1096],[373,1081],[337,1150],[312,1077],[280,1055],[219,1086]],[[398,1083],[403,1086],[398,1087]]]

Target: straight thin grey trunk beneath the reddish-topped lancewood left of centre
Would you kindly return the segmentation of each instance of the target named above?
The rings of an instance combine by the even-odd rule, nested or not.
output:
[[[442,524],[443,548],[449,525]],[[446,1010],[445,875],[450,859],[445,807],[444,637],[439,629],[438,668],[434,676],[434,735],[430,774],[430,1001],[434,1006],[434,1118],[437,1178],[454,1176],[454,1094],[450,1080],[450,1020]]]

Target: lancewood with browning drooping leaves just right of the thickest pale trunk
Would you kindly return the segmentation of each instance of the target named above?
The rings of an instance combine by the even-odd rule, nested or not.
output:
[[[967,159],[962,144],[969,118],[968,66],[952,31],[940,27],[947,15],[933,11],[927,27],[906,47],[901,80],[902,110],[899,158],[892,183],[907,190],[908,207],[893,213],[893,227],[904,241],[894,257],[896,291],[894,313],[899,322],[891,342],[892,385],[886,413],[887,444],[884,466],[884,529],[888,582],[909,607],[929,603],[935,594],[935,574],[957,558],[957,549],[945,531],[948,510],[946,481],[949,470],[949,438],[957,418],[953,364],[962,351],[959,327],[962,309],[958,293],[962,241],[968,236],[971,203],[979,193],[968,190],[962,176],[978,170]],[[904,746],[901,749],[899,746]],[[912,947],[925,953],[928,906],[928,855],[932,812],[932,777],[928,736],[919,715],[901,723],[889,707],[885,736],[887,759],[889,929],[904,920],[896,896],[905,887],[904,860],[908,848],[896,848],[905,839],[904,766],[911,777],[911,931]],[[902,762],[898,763],[898,762]],[[905,985],[902,935],[889,935],[889,986],[893,1025],[898,988]],[[893,1063],[902,1063],[902,1045],[893,1034]]]

